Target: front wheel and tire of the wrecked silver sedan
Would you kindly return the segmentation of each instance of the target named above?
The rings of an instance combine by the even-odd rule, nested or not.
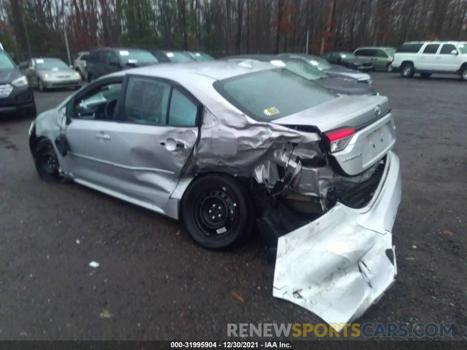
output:
[[[34,147],[34,165],[37,174],[45,182],[64,183],[68,180],[60,173],[60,163],[52,143],[42,139]]]

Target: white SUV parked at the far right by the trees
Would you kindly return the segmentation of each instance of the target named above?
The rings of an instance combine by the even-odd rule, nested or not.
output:
[[[406,42],[396,50],[392,67],[404,78],[440,73],[458,74],[467,81],[467,42]]]

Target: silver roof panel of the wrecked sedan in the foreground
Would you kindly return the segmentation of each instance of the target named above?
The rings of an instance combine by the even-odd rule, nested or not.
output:
[[[212,81],[216,81],[270,69],[277,69],[277,67],[270,63],[255,62],[248,59],[241,63],[224,60],[208,62],[193,61],[182,65],[174,63],[158,63],[146,67],[115,72],[111,75],[122,76],[125,74],[137,74],[147,77],[165,77],[184,84],[185,81],[193,80],[199,76],[207,77]]]

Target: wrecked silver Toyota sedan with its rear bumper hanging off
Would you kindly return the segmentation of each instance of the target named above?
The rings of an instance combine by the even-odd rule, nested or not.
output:
[[[181,219],[207,248],[258,228],[276,250],[273,295],[339,324],[396,276],[395,129],[386,97],[216,61],[101,77],[40,114],[29,145],[43,180]]]

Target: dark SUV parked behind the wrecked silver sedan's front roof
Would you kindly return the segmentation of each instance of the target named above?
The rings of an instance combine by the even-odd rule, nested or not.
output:
[[[87,80],[91,82],[106,74],[157,62],[159,61],[154,55],[142,49],[93,49],[86,61]]]

